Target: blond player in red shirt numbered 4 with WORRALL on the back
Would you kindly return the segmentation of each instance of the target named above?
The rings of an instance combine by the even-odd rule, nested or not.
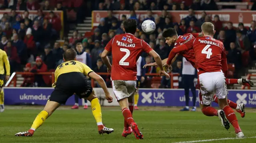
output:
[[[202,112],[213,110],[210,106],[213,96],[216,94],[218,104],[222,110],[218,110],[218,117],[222,125],[229,129],[229,122],[233,125],[236,137],[244,137],[242,130],[238,125],[238,120],[232,108],[227,102],[227,88],[225,76],[222,72],[222,66],[226,66],[226,53],[223,43],[213,37],[215,30],[214,25],[210,22],[202,24],[203,37],[197,37],[188,41],[186,44],[174,48],[169,55],[166,65],[170,65],[176,53],[194,49],[196,67],[200,80],[200,106]],[[214,109],[215,110],[215,109]],[[226,115],[226,116],[225,116]],[[229,121],[229,122],[228,122]]]

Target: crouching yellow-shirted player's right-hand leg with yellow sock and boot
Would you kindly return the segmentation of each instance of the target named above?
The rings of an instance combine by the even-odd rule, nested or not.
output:
[[[100,102],[99,102],[94,90],[92,90],[92,88],[89,90],[90,90],[90,92],[88,92],[87,90],[85,91],[89,96],[87,97],[87,95],[85,95],[86,97],[84,97],[84,99],[89,100],[91,102],[92,114],[93,114],[93,116],[96,120],[96,123],[98,125],[98,132],[100,134],[112,133],[114,131],[114,129],[105,127],[102,123],[101,106],[100,106]]]

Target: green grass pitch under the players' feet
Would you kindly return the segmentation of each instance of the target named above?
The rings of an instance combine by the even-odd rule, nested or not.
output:
[[[114,128],[114,133],[99,135],[91,110],[56,110],[33,137],[15,137],[14,134],[30,128],[43,107],[8,106],[0,113],[0,143],[176,143],[207,139],[207,143],[256,143],[256,113],[248,110],[246,117],[236,114],[245,139],[234,139],[234,129],[227,131],[217,117],[206,117],[201,112],[178,112],[173,108],[144,108],[134,111],[134,119],[144,135],[136,140],[134,135],[124,138],[123,116],[118,108],[102,107],[103,123]],[[157,111],[156,111],[157,110]],[[162,110],[162,111],[160,111]]]

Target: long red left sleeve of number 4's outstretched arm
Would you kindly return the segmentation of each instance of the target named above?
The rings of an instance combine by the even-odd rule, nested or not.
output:
[[[177,53],[182,52],[182,51],[188,51],[189,49],[192,49],[193,41],[194,41],[194,38],[192,38],[187,43],[184,43],[183,45],[173,48],[168,56],[168,60],[166,61],[166,63],[168,65],[170,65],[172,63],[172,59],[176,56]]]

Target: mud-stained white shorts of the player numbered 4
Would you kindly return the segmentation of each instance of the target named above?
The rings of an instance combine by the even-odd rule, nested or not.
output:
[[[226,98],[228,90],[225,79],[223,72],[206,72],[200,74],[200,90],[198,94],[200,104],[210,105],[213,101],[214,94],[219,99]]]

